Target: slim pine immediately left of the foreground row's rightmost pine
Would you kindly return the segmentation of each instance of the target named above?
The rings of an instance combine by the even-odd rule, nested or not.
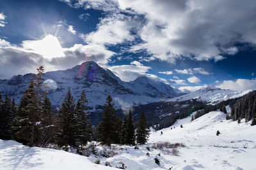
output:
[[[129,110],[127,120],[127,145],[135,145],[135,128],[132,121],[132,111]]]

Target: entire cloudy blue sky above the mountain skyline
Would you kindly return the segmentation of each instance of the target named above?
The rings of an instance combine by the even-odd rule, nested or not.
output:
[[[0,12],[1,79],[94,60],[182,92],[256,88],[255,1],[3,0]]]

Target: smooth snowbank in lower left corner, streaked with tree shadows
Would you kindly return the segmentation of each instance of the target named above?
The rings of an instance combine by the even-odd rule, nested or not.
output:
[[[74,153],[47,148],[31,148],[15,141],[0,139],[0,169],[113,170],[114,168],[93,164],[88,157]]]

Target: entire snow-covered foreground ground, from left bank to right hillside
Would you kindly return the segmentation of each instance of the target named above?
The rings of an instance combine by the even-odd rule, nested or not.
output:
[[[227,108],[228,110],[228,108]],[[229,111],[229,110],[228,110]],[[256,126],[225,120],[225,114],[212,111],[190,122],[191,117],[177,120],[171,127],[151,132],[147,145],[114,145],[113,157],[80,156],[61,150],[29,148],[15,141],[0,140],[0,169],[113,169],[124,163],[126,169],[256,169]],[[182,124],[183,128],[180,128]],[[175,128],[174,128],[175,127]],[[220,136],[216,136],[216,131]],[[154,143],[184,143],[178,156],[166,149],[154,149]],[[150,151],[146,147],[150,147]],[[104,147],[97,146],[98,151]],[[106,150],[109,148],[106,147]],[[147,155],[148,153],[148,155]],[[159,159],[160,166],[155,163]],[[100,160],[100,164],[94,164]],[[106,162],[112,166],[104,166]]]

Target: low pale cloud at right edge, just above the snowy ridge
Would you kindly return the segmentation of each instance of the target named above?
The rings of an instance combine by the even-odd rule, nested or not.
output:
[[[220,89],[230,89],[230,90],[250,90],[256,89],[256,80],[248,80],[248,79],[237,79],[237,80],[224,80],[220,85],[216,86]]]

